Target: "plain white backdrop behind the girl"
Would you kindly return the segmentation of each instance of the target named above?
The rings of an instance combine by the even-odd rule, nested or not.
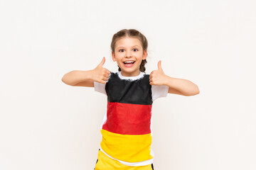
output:
[[[104,67],[124,28],[149,41],[146,74],[197,84],[152,108],[156,170],[256,169],[256,3],[0,1],[0,169],[94,169],[105,95],[68,86],[72,70]]]

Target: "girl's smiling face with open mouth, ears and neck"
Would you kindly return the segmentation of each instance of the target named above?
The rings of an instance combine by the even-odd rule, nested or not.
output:
[[[138,38],[119,38],[112,52],[112,59],[117,62],[124,77],[138,76],[139,66],[146,57],[146,50],[143,51]]]

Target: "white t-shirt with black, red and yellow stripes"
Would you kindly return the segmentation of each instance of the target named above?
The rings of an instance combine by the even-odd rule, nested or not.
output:
[[[156,98],[167,96],[169,87],[150,85],[144,72],[137,77],[111,72],[106,84],[95,81],[94,86],[107,95],[100,150],[128,166],[153,164],[151,106]]]

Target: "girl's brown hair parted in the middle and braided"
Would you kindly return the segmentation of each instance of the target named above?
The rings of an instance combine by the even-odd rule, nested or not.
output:
[[[114,45],[117,42],[117,40],[123,37],[138,38],[139,41],[142,43],[143,51],[147,50],[148,42],[146,40],[146,37],[142,33],[140,33],[139,30],[123,29],[123,30],[119,30],[117,33],[113,35],[112,42],[110,45],[112,52],[114,52]],[[146,55],[147,55],[147,52],[146,52]],[[142,63],[139,66],[139,71],[145,72],[146,70],[146,67],[144,66],[145,64],[146,64],[146,59],[142,60]],[[119,72],[121,71],[121,68],[119,66],[118,66],[118,71]]]

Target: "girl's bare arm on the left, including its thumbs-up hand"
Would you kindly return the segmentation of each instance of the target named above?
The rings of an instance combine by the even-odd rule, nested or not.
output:
[[[66,73],[61,80],[70,86],[93,87],[94,81],[106,84],[107,79],[110,77],[110,71],[103,68],[104,63],[105,57],[95,69],[87,71],[73,70]]]

